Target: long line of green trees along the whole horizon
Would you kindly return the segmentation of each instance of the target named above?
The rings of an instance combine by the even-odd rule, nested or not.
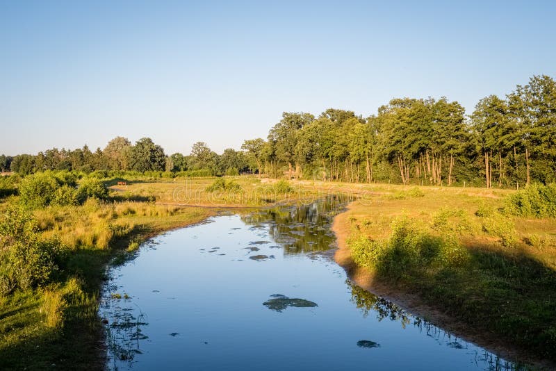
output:
[[[266,140],[245,140],[240,151],[225,149],[220,155],[197,142],[189,155],[167,156],[149,138],[132,145],[117,137],[94,152],[85,145],[0,156],[0,170],[206,170],[487,188],[551,183],[556,181],[556,83],[533,76],[505,98],[484,97],[471,115],[445,97],[395,98],[369,117],[333,108],[317,117],[283,113]]]

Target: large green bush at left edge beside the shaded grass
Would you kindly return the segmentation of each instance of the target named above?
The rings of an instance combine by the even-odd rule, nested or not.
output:
[[[31,214],[10,207],[0,222],[0,292],[44,286],[58,270],[60,242],[40,240]]]

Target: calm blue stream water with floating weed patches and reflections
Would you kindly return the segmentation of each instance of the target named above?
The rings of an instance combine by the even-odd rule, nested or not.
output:
[[[104,290],[108,368],[514,368],[352,285],[330,249],[342,206],[212,217],[144,244]]]

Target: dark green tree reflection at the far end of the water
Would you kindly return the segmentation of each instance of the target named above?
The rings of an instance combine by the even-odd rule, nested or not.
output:
[[[270,237],[286,254],[324,251],[335,236],[330,231],[332,217],[350,201],[345,196],[329,196],[300,206],[281,206],[242,215],[247,225],[268,224]]]

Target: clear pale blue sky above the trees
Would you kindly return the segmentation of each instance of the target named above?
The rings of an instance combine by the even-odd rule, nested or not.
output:
[[[117,135],[221,153],[284,111],[366,116],[393,97],[471,113],[556,77],[555,4],[0,0],[0,154]]]

